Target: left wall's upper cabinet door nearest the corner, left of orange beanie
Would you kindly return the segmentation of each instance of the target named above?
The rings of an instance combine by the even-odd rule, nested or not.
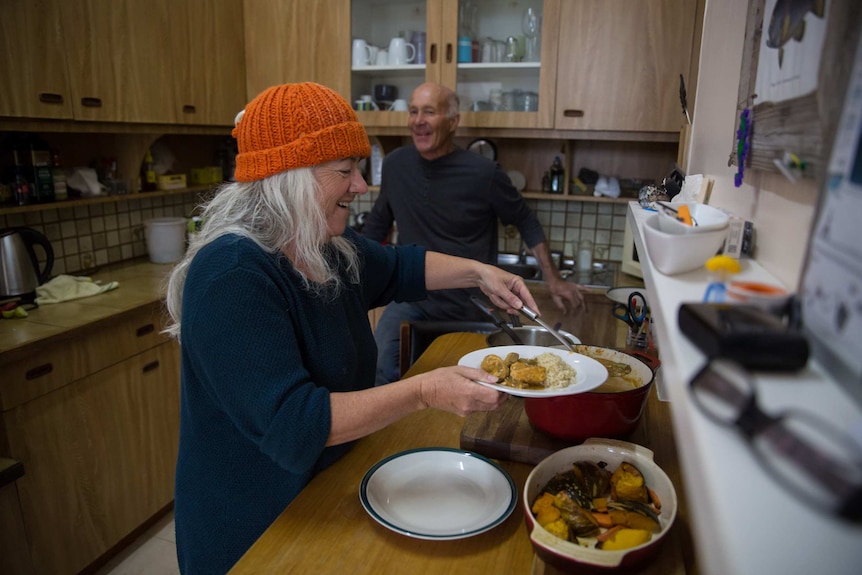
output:
[[[242,0],[182,0],[185,26],[174,34],[176,110],[182,124],[232,126],[246,104]]]

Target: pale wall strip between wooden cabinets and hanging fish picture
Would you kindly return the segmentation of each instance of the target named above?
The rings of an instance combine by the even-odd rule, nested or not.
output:
[[[814,180],[798,183],[777,173],[746,170],[736,188],[736,102],[748,0],[708,0],[700,50],[695,113],[689,149],[690,174],[715,178],[710,203],[754,222],[755,258],[786,287],[799,284],[816,211]]]

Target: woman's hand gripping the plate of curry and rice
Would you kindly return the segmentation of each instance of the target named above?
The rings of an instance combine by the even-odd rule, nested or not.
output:
[[[461,417],[497,409],[508,398],[506,393],[476,383],[474,380],[497,383],[496,377],[476,367],[441,367],[415,377],[421,380],[419,394],[426,407]]]

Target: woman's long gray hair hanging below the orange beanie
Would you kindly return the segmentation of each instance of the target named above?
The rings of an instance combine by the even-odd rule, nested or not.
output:
[[[198,251],[223,235],[244,236],[269,253],[285,254],[304,287],[317,297],[334,298],[344,287],[338,273],[339,259],[350,283],[359,283],[356,247],[342,237],[326,242],[326,214],[313,168],[226,184],[203,206],[202,219],[203,228],[168,280],[167,306],[172,321],[165,332],[177,339],[189,266]],[[328,257],[333,250],[339,257]]]

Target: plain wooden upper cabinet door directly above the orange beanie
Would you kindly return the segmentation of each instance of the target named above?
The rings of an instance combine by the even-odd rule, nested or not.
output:
[[[244,2],[246,100],[318,82],[350,99],[350,0]]]

